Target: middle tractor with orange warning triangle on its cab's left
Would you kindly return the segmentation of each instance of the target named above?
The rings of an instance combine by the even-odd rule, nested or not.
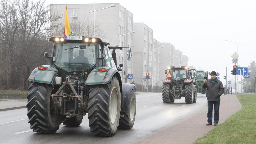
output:
[[[196,86],[193,84],[189,67],[169,66],[165,70],[166,79],[162,85],[163,103],[172,103],[175,98],[185,97],[186,103],[195,103],[197,100]]]

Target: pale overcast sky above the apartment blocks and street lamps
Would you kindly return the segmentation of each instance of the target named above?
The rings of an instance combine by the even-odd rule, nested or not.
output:
[[[94,0],[46,0],[49,4],[94,3]],[[238,65],[247,67],[256,59],[256,1],[254,0],[96,0],[120,3],[134,14],[134,22],[153,29],[159,42],[170,42],[189,57],[197,69],[215,70],[234,78],[231,55],[237,51]],[[255,56],[254,56],[255,55]],[[232,76],[232,77],[231,77]],[[241,80],[241,77],[239,77]]]

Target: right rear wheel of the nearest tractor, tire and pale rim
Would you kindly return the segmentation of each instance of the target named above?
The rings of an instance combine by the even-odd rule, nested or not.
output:
[[[121,111],[121,92],[117,77],[107,84],[89,90],[88,119],[94,135],[113,136],[117,131]]]

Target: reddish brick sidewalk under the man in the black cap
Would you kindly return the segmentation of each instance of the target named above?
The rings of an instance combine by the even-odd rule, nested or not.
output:
[[[241,108],[242,106],[236,98],[236,95],[222,95],[220,101],[219,124],[224,122]],[[214,129],[214,125],[206,126],[206,123],[207,110],[141,138],[135,141],[134,144],[190,144],[196,139],[201,138],[208,131]]]

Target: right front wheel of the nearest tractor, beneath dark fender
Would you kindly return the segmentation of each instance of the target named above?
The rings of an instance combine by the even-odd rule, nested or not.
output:
[[[128,111],[121,112],[123,117],[119,120],[119,129],[131,129],[134,125],[136,115],[136,95],[135,91],[132,90],[131,95],[128,97]]]

